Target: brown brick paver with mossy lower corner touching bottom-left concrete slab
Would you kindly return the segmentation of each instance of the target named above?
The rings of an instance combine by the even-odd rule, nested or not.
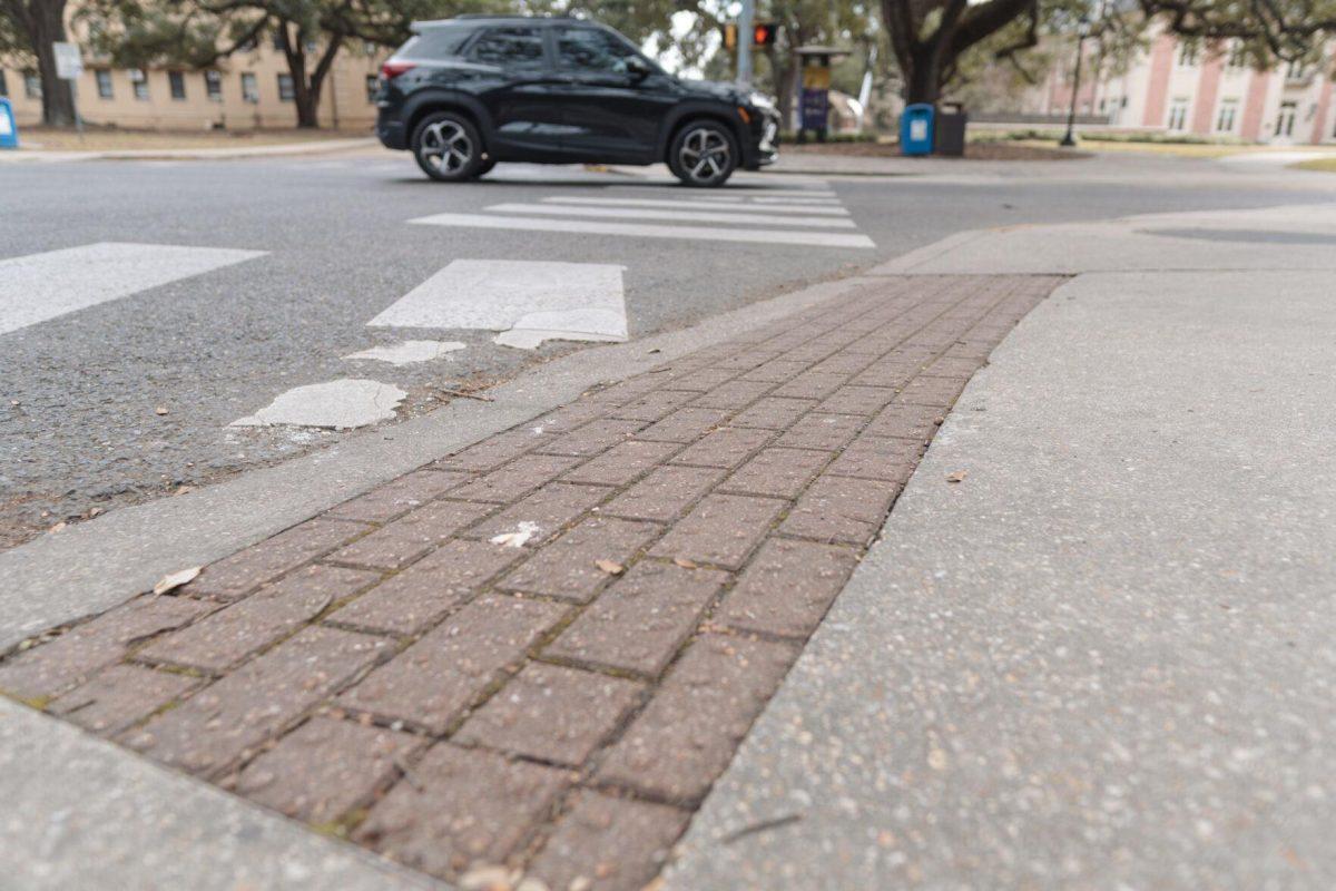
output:
[[[421,736],[317,716],[251,761],[231,787],[287,816],[329,824],[389,788],[426,744]]]

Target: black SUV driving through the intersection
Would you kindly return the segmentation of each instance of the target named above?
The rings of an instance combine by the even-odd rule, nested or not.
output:
[[[624,36],[577,19],[421,21],[381,67],[375,134],[433,179],[497,162],[655,164],[688,186],[776,158],[779,114],[760,94],[680,80]]]

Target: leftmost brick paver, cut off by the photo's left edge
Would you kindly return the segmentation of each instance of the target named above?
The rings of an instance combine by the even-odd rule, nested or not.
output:
[[[27,700],[53,696],[119,661],[135,641],[179,628],[210,609],[183,597],[132,600],[0,665],[0,692]]]

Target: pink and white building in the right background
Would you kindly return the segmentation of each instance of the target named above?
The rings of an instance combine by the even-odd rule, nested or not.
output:
[[[1101,65],[1092,43],[1083,59],[1078,114],[1098,115],[1120,130],[1281,146],[1336,143],[1336,44],[1327,47],[1320,64],[1259,71],[1229,41],[1208,44],[1161,33],[1126,71],[1097,73],[1108,65]],[[1050,72],[1031,98],[1038,111],[1067,112],[1071,68],[1067,61]]]

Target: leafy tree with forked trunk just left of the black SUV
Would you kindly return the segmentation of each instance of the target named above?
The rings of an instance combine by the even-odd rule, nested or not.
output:
[[[397,45],[407,39],[414,19],[494,5],[489,0],[95,0],[84,15],[98,48],[127,67],[207,68],[273,39],[293,79],[297,126],[318,127],[325,79],[350,41]]]

